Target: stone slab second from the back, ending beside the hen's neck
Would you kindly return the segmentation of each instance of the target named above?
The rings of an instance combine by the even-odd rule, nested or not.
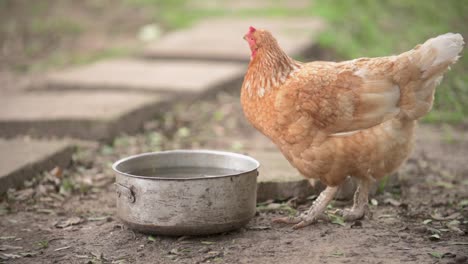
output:
[[[42,88],[200,94],[239,81],[246,68],[233,62],[112,59],[52,73]]]

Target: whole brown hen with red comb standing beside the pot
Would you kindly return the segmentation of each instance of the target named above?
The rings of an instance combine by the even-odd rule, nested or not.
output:
[[[241,90],[245,116],[305,177],[327,186],[308,212],[276,219],[294,228],[320,217],[348,176],[358,189],[343,217],[364,215],[370,183],[406,160],[416,122],[464,44],[448,33],[396,56],[302,63],[266,30],[251,27],[244,39],[252,52]]]

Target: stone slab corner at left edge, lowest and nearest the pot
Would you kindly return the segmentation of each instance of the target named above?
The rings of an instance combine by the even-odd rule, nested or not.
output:
[[[21,186],[41,171],[67,167],[73,150],[65,141],[0,139],[0,194]]]

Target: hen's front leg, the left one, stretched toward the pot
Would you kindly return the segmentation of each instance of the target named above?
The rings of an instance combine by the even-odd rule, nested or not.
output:
[[[296,217],[282,217],[273,219],[273,222],[296,224],[293,226],[294,229],[308,226],[321,216],[327,205],[330,203],[333,197],[335,197],[337,190],[338,187],[327,187],[323,192],[320,193],[307,213],[302,213]]]

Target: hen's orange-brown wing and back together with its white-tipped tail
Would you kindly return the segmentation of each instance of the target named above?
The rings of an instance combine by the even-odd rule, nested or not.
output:
[[[304,64],[277,93],[278,123],[287,124],[294,141],[312,131],[330,135],[420,118],[463,44],[460,34],[448,33],[398,56]]]

